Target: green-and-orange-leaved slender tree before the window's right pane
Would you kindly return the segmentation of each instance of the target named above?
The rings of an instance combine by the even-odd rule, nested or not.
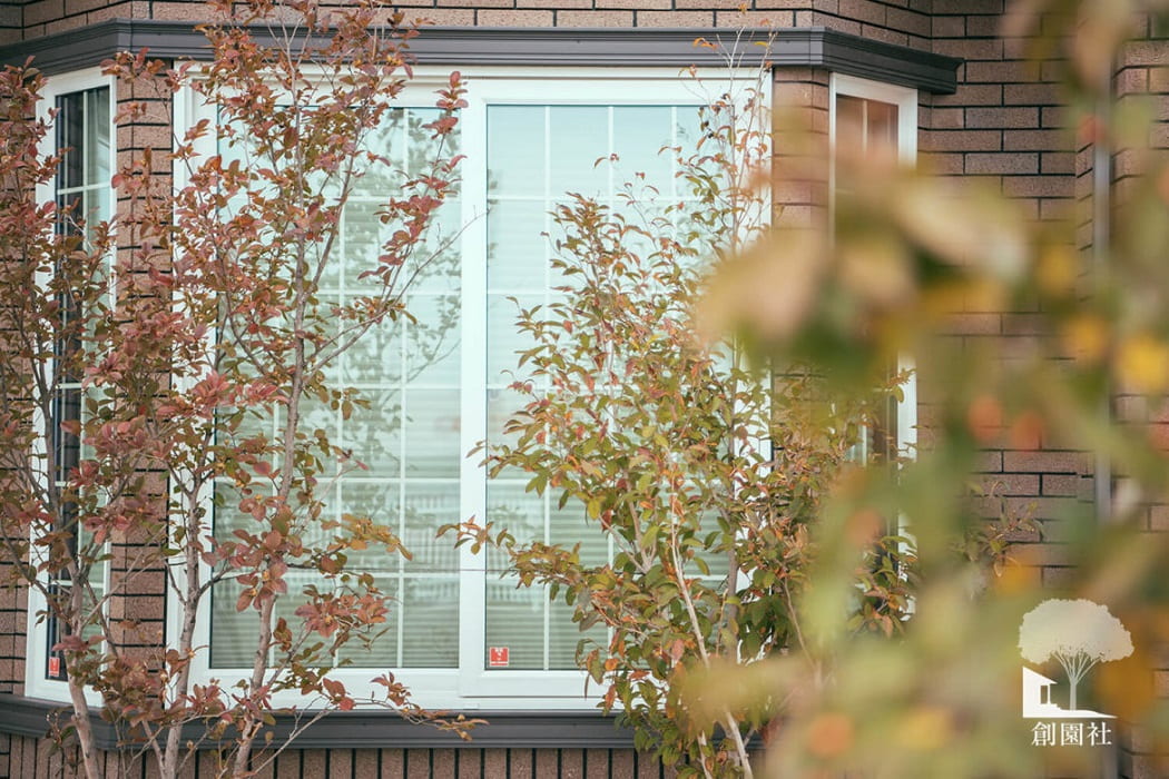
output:
[[[879,434],[900,381],[828,397],[810,371],[773,377],[734,345],[697,338],[712,259],[758,238],[767,209],[750,178],[769,153],[766,79],[731,79],[699,111],[696,146],[663,151],[684,182],[679,202],[642,179],[615,204],[573,195],[554,214],[558,301],[519,312],[531,348],[512,389],[524,405],[485,445],[486,461],[575,508],[588,526],[579,543],[532,541],[505,520],[459,528],[462,542],[502,549],[519,585],[546,585],[574,607],[589,632],[577,662],[606,687],[603,708],[620,709],[636,745],[679,775],[754,775],[747,744],[782,702],[711,695],[704,721],[684,702],[687,680],[788,651],[816,655],[797,613],[812,521]],[[912,550],[869,519],[857,527],[869,547],[851,630],[892,635]]]

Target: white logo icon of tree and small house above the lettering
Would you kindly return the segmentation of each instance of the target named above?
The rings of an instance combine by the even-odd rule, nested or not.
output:
[[[1079,683],[1099,662],[1133,654],[1133,639],[1106,606],[1079,598],[1050,598],[1029,611],[1019,626],[1023,659],[1036,665],[1056,660],[1068,684],[1068,707],[1051,700],[1056,681],[1023,669],[1023,716],[1028,718],[1088,718],[1112,715],[1079,709]]]

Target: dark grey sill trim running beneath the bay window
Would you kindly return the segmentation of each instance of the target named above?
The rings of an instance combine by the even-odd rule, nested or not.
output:
[[[430,725],[407,722],[393,711],[338,711],[310,725],[297,737],[296,749],[632,749],[634,733],[617,728],[615,717],[599,711],[469,711],[469,717],[486,719],[471,731],[471,740],[443,732]],[[70,716],[68,703],[56,703],[19,695],[0,695],[0,733],[32,738],[44,737],[49,717],[58,716],[62,723]],[[117,730],[99,716],[91,715],[95,742],[98,749],[116,750],[133,746],[119,739]],[[283,743],[292,729],[292,718],[277,715],[274,728],[276,743]],[[200,729],[192,728],[189,737],[196,739]],[[184,737],[184,740],[187,736]],[[201,746],[210,749],[214,742]]]

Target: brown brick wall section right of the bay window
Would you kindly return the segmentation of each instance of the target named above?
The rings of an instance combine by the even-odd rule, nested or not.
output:
[[[934,4],[933,50],[966,63],[954,95],[922,98],[920,158],[943,176],[973,179],[1012,197],[1031,218],[1067,218],[1077,202],[1077,158],[1058,75],[1030,63],[1024,42],[999,37],[1003,8],[1002,0]],[[948,334],[971,349],[992,341],[1010,359],[1044,338],[1037,320],[1025,306],[1004,312],[968,301]],[[936,413],[928,389],[922,398],[921,419],[929,425]],[[983,502],[984,514],[996,515],[1001,498],[1012,513],[1031,513],[1042,529],[1042,541],[1018,541],[1026,543],[1023,559],[1049,585],[1064,580],[1071,563],[1060,522],[1084,510],[1077,503],[1091,495],[1091,458],[1061,446],[1047,436],[1007,436],[980,462],[985,487],[997,495]]]

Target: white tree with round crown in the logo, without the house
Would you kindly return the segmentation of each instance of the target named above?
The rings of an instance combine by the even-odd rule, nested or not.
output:
[[[1133,654],[1133,639],[1107,606],[1078,598],[1050,598],[1029,611],[1019,626],[1019,649],[1035,663],[1054,658],[1071,687],[1071,708],[1077,709],[1080,680],[1098,662]]]

